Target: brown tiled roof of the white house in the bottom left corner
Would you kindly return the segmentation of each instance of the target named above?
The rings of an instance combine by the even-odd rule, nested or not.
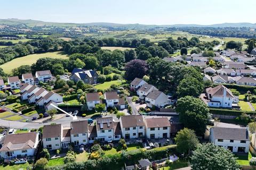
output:
[[[21,150],[34,148],[37,132],[7,134],[0,151]]]

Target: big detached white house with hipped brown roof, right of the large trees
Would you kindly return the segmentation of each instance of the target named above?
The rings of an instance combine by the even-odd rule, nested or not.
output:
[[[214,88],[206,89],[207,103],[209,107],[227,107],[231,108],[234,95],[232,92],[223,85],[216,86]]]

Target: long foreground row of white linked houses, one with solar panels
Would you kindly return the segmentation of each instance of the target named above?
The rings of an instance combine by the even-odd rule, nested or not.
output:
[[[145,118],[141,115],[122,116],[116,122],[113,117],[97,118],[95,125],[87,120],[70,122],[70,128],[61,124],[45,125],[43,146],[49,150],[67,148],[70,142],[75,146],[98,141],[118,141],[124,139],[170,138],[171,124],[167,117]]]

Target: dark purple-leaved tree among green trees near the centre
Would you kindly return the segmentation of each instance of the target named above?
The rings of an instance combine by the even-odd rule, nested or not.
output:
[[[125,65],[125,78],[133,80],[134,78],[143,78],[148,71],[148,65],[143,60],[132,60]]]

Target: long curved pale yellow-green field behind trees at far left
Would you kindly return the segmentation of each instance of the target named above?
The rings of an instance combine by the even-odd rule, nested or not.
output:
[[[42,54],[30,54],[24,57],[15,58],[10,62],[4,63],[0,65],[0,67],[4,70],[5,73],[11,73],[12,69],[17,68],[21,65],[31,65],[36,63],[39,58],[68,58],[66,54],[61,52],[49,52],[49,53],[42,53]]]

